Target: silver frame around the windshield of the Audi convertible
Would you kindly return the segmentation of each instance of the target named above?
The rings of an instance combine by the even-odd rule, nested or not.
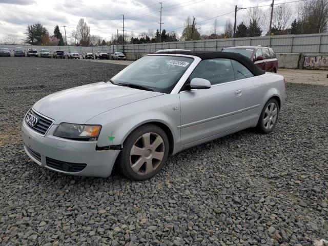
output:
[[[154,53],[154,54],[148,54],[145,55],[146,56],[172,56],[172,57],[187,57],[187,58],[192,58],[191,64],[189,65],[189,67],[187,68],[187,70],[185,70],[185,72],[180,76],[180,78],[177,79],[176,83],[173,84],[173,87],[168,88],[168,90],[166,92],[156,92],[156,93],[166,93],[166,94],[178,94],[180,92],[180,89],[182,88],[182,86],[185,84],[185,82],[187,81],[187,79],[189,78],[190,74],[192,73],[192,71],[196,68],[196,66],[198,65],[198,63],[201,61],[201,58],[199,58],[198,56],[194,56],[194,55],[182,55],[182,54],[167,54],[167,53],[162,53],[162,54],[158,54],[158,53]],[[132,64],[131,64],[132,65]],[[131,66],[129,65],[129,66]],[[128,66],[128,67],[129,67]],[[126,68],[128,68],[126,67]],[[125,69],[126,69],[125,68]],[[125,70],[124,69],[124,70]],[[122,70],[122,71],[124,71]],[[122,72],[121,71],[121,72]],[[117,74],[116,74],[117,75]],[[115,75],[115,76],[116,76]],[[113,76],[111,78],[111,80],[115,77]],[[115,79],[115,78],[114,78]],[[116,81],[114,81],[114,85],[118,85],[118,83],[115,83]],[[119,85],[118,85],[119,86]]]

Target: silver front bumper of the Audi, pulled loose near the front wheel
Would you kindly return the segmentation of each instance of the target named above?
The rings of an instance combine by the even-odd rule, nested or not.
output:
[[[27,155],[39,166],[50,170],[76,176],[108,177],[112,172],[119,150],[96,151],[97,142],[75,141],[53,136],[57,125],[52,125],[45,136],[31,130],[25,120],[22,124],[22,138]],[[59,168],[53,168],[53,160]],[[52,161],[52,163],[51,163]],[[59,164],[58,164],[59,163]],[[68,170],[62,165],[80,167],[81,171]],[[68,163],[68,164],[67,164]],[[72,169],[73,170],[73,169]]]

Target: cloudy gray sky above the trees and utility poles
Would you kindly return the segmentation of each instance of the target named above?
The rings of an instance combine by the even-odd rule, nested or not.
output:
[[[0,0],[0,40],[8,34],[15,34],[24,38],[28,24],[41,23],[53,34],[55,25],[59,25],[64,35],[64,25],[67,26],[66,34],[76,29],[80,18],[84,18],[91,28],[91,34],[97,34],[109,40],[112,34],[122,30],[120,14],[125,14],[125,31],[133,32],[137,36],[148,29],[159,29],[160,0]],[[284,1],[276,0],[277,3]],[[215,16],[234,11],[238,7],[250,7],[257,4],[268,5],[271,0],[162,0],[162,29],[175,31],[181,34],[183,24],[188,15],[195,16],[202,34],[211,33],[214,19],[202,22]],[[263,7],[266,11],[268,7]],[[247,10],[237,13],[237,22],[241,22]],[[234,13],[217,17],[218,31],[222,32],[226,20],[234,19]]]

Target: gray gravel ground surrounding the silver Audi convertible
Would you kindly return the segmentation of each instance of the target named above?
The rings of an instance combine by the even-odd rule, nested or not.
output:
[[[1,245],[313,245],[328,239],[328,87],[286,85],[272,134],[182,151],[149,181],[61,175],[24,153],[20,122],[52,92],[124,66],[0,58]]]

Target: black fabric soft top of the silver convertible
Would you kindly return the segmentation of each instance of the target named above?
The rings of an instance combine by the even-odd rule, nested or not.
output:
[[[255,76],[262,75],[265,72],[257,67],[253,61],[241,54],[233,53],[233,52],[219,52],[219,51],[158,51],[158,53],[165,53],[165,54],[180,54],[180,55],[193,55],[198,56],[202,60],[206,59],[214,59],[214,58],[227,58],[239,61],[242,65],[247,67]]]

